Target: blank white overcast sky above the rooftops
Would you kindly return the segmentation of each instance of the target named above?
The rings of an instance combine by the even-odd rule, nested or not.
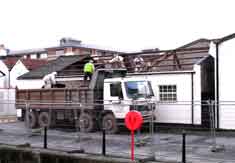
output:
[[[62,37],[122,51],[171,49],[235,32],[233,0],[6,0],[0,43],[56,46]]]

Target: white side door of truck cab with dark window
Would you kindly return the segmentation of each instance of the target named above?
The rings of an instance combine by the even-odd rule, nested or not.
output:
[[[104,83],[104,110],[113,112],[116,119],[124,118],[121,82]]]

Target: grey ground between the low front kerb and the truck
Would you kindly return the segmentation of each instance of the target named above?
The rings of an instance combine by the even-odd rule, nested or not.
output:
[[[182,136],[174,133],[155,132],[153,137],[148,132],[136,134],[135,157],[148,159],[154,157],[160,161],[181,161]],[[216,146],[209,132],[186,137],[187,162],[200,163],[235,163],[235,136],[216,137]],[[21,145],[30,143],[32,147],[43,147],[43,132],[26,129],[24,123],[0,124],[0,143]],[[218,149],[212,152],[213,145]],[[48,148],[73,151],[84,149],[87,153],[101,154],[102,133],[65,132],[48,130]],[[130,157],[130,135],[106,135],[106,153],[118,157]]]

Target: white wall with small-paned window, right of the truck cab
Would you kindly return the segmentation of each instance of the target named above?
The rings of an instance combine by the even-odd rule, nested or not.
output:
[[[162,103],[156,108],[156,121],[161,123],[192,124],[192,80],[191,73],[133,75],[136,80],[146,79],[152,83],[154,94],[159,101],[159,85],[176,85],[177,101]],[[194,76],[194,100],[200,100],[200,79]],[[196,91],[196,89],[198,89]],[[184,101],[184,102],[183,102]],[[186,102],[187,101],[187,102]],[[194,124],[201,124],[201,107],[194,108]]]

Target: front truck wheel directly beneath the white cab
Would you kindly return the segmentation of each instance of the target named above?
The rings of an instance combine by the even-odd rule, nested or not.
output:
[[[118,131],[116,119],[112,114],[106,114],[103,117],[102,126],[107,134],[114,134]]]

